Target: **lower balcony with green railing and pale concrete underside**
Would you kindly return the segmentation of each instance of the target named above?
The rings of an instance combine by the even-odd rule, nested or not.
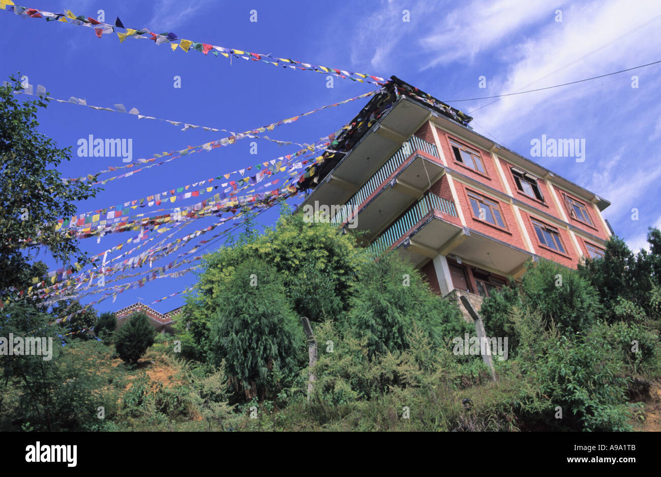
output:
[[[434,258],[439,248],[463,232],[450,217],[457,218],[454,203],[436,194],[425,194],[368,246],[368,254],[377,256],[393,245],[403,244],[397,248],[416,265]],[[411,239],[413,235],[415,240]]]

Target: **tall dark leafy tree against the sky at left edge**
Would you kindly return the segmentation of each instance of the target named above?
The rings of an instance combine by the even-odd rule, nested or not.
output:
[[[29,255],[42,246],[63,263],[72,255],[85,260],[73,233],[58,230],[58,219],[71,217],[75,202],[98,190],[89,182],[62,182],[56,166],[69,161],[71,149],[37,131],[36,113],[50,98],[22,100],[19,78],[0,87],[0,299],[13,297],[9,287],[25,285],[17,283],[17,270],[28,270]]]

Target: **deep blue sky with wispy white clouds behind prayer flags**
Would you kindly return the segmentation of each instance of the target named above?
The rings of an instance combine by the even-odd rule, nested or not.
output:
[[[661,59],[655,41],[661,38],[661,17],[649,22],[661,15],[661,5],[654,1],[17,3],[54,13],[71,9],[75,15],[93,18],[103,9],[106,22],[120,17],[128,28],[175,32],[179,38],[196,42],[381,77],[397,75],[446,101],[547,87]],[[257,22],[250,21],[253,9]],[[410,12],[408,22],[403,21],[404,10]],[[562,22],[556,21],[557,10],[562,11]],[[374,85],[341,79],[329,89],[326,76],[311,71],[237,59],[230,63],[221,56],[172,52],[167,44],[155,46],[133,38],[120,44],[116,34],[98,39],[89,28],[17,18],[6,12],[0,12],[0,28],[3,79],[20,71],[30,84],[44,85],[54,98],[76,96],[85,98],[87,104],[108,107],[122,103],[127,109],[137,108],[140,114],[231,131],[253,129],[375,89]],[[632,87],[633,75],[638,77],[638,88]],[[180,89],[174,87],[175,76],[181,78]],[[485,89],[479,87],[481,76],[486,77]],[[657,186],[661,178],[660,79],[661,65],[654,65],[497,102],[450,104],[475,118],[471,126],[477,132],[525,157],[531,157],[531,139],[542,135],[585,139],[583,163],[572,158],[531,159],[611,201],[604,216],[617,235],[638,250],[646,245],[647,227],[661,227]],[[281,126],[269,136],[311,143],[340,128],[366,102],[317,112]],[[77,141],[90,134],[132,139],[134,159],[225,136],[200,129],[180,131],[163,122],[56,102],[38,118],[42,133],[60,147],[73,148],[71,161],[61,165],[63,176],[124,165],[117,157],[77,157]],[[298,149],[254,139],[258,154],[251,155],[251,141],[243,139],[230,147],[175,159],[109,182],[97,198],[80,203],[79,212],[198,182]],[[100,178],[112,175],[116,174]],[[181,205],[194,202],[198,200]],[[637,221],[632,220],[634,208],[639,210]],[[136,213],[147,210],[137,209]],[[276,211],[268,211],[260,222],[270,225],[276,217]],[[202,219],[185,230],[213,222]],[[86,238],[81,244],[98,253],[132,235],[107,235],[100,243]],[[173,259],[169,256],[155,266]],[[48,263],[61,266],[52,260]],[[194,281],[193,274],[157,279],[119,294],[115,303],[108,299],[96,308],[114,311],[138,300],[149,303]],[[98,296],[82,301],[89,303]],[[167,312],[183,303],[176,296],[154,308]]]

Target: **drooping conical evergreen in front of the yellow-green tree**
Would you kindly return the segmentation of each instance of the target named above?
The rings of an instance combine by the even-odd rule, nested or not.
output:
[[[241,398],[264,400],[278,377],[295,375],[303,327],[280,275],[262,260],[237,264],[218,293],[221,307],[211,324],[211,361],[219,366],[225,360],[229,385]]]

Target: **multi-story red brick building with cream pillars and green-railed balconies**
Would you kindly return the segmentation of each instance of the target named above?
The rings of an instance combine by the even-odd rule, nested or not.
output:
[[[603,254],[610,203],[470,128],[472,118],[392,77],[300,185],[375,254],[396,249],[432,289],[479,307],[527,260],[576,268]],[[342,152],[340,152],[342,151]],[[340,207],[341,206],[341,207]],[[332,210],[332,209],[331,209]]]

